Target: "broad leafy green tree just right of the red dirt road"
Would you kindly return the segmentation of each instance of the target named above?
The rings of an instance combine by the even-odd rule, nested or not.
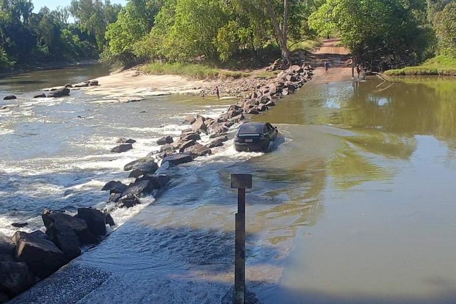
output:
[[[420,1],[327,0],[309,24],[320,35],[337,32],[360,62],[398,66],[420,60],[427,48],[424,10]]]

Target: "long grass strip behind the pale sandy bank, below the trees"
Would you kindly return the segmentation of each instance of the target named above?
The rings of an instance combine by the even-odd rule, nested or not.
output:
[[[232,71],[222,70],[204,64],[180,64],[180,63],[149,63],[141,67],[147,74],[154,75],[182,75],[191,79],[219,79],[233,78],[239,79],[244,77],[268,78],[277,72],[269,71]]]

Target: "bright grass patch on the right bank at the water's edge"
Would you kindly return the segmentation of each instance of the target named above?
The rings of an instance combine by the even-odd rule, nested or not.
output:
[[[389,76],[404,75],[449,75],[456,76],[456,58],[439,55],[425,61],[419,66],[407,66],[400,69],[391,69],[385,72]]]

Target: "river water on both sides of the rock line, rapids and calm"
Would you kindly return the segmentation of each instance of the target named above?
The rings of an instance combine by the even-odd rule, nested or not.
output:
[[[8,102],[19,107],[0,112],[1,232],[14,233],[12,221],[40,228],[43,208],[103,207],[99,188],[127,181],[125,163],[179,134],[185,116],[215,116],[233,103],[178,95],[103,103],[77,91],[28,98],[55,79],[103,72],[0,83],[1,94],[23,93]],[[453,303],[454,96],[454,79],[310,82],[254,118],[280,130],[270,153],[227,145],[174,168],[155,201],[115,211],[120,227],[106,240],[12,302],[229,302],[237,172],[253,174],[247,287],[260,303]],[[118,137],[138,143],[112,155]]]

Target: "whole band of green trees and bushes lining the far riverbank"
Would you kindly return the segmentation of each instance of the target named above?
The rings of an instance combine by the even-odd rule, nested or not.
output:
[[[0,68],[100,56],[122,66],[155,62],[151,70],[164,64],[187,74],[196,64],[215,70],[203,74],[229,67],[240,75],[277,57],[290,63],[291,51],[313,47],[306,41],[336,35],[356,63],[388,70],[454,58],[455,12],[454,0],[73,0],[33,13],[31,0],[4,0]]]

